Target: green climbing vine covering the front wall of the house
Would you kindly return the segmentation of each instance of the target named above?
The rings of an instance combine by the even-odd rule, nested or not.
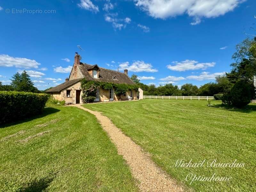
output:
[[[100,81],[88,81],[83,79],[81,81],[81,90],[83,91],[82,100],[84,103],[93,102],[96,99],[97,89],[102,88],[105,90],[115,89],[116,95],[122,95],[128,90],[138,91],[138,85],[128,85],[128,84],[116,84],[109,82],[100,82]]]

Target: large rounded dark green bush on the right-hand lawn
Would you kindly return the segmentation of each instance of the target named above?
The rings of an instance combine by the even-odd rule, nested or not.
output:
[[[237,81],[230,91],[232,105],[242,108],[251,102],[250,85],[244,81]]]

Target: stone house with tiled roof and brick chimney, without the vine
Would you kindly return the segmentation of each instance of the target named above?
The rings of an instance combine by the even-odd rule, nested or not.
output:
[[[75,62],[69,77],[66,78],[64,83],[53,87],[46,92],[50,93],[52,98],[56,100],[65,100],[66,103],[83,103],[83,92],[80,88],[81,80],[83,78],[89,81],[109,82],[115,84],[134,84],[128,76],[127,69],[124,70],[124,73],[121,73],[106,68],[100,68],[98,65],[82,63],[80,62],[80,55],[76,53]],[[114,88],[111,90],[99,88],[97,89],[95,97],[95,102],[137,100],[143,99],[143,91],[141,89],[139,89],[139,92],[136,90],[129,90],[123,95],[116,95]]]

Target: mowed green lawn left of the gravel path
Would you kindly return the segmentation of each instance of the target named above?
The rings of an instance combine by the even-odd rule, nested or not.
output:
[[[0,191],[138,191],[95,116],[75,107],[0,128]]]

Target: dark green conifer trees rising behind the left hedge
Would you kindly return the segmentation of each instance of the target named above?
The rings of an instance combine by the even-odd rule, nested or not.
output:
[[[15,91],[39,92],[38,89],[34,87],[34,83],[31,81],[30,76],[25,70],[21,74],[14,74],[11,80],[11,86]]]

